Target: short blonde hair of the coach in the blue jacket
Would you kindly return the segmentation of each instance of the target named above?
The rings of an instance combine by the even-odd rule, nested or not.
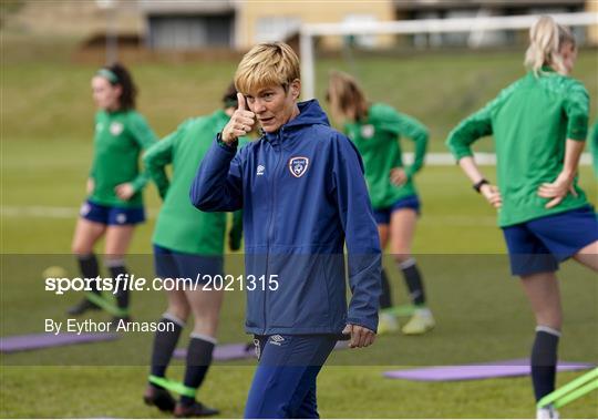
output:
[[[283,42],[266,42],[244,55],[235,73],[235,86],[241,93],[277,85],[287,90],[296,79],[301,79],[301,71],[295,51]]]

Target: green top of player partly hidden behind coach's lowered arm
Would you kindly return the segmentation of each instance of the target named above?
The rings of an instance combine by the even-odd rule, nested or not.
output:
[[[368,110],[368,120],[346,124],[344,133],[363,158],[373,208],[388,208],[398,199],[416,194],[413,175],[422,167],[427,147],[427,130],[422,123],[389,105],[374,103]],[[390,172],[393,167],[404,167],[401,136],[415,142],[415,157],[405,168],[408,182],[396,186],[390,181]]]

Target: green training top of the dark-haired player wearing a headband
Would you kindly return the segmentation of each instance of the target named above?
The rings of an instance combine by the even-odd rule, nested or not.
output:
[[[90,177],[95,186],[91,202],[116,207],[142,207],[147,174],[140,172],[140,154],[156,142],[156,135],[136,111],[99,111],[95,114],[94,156]],[[123,201],[114,188],[131,183],[135,194]]]

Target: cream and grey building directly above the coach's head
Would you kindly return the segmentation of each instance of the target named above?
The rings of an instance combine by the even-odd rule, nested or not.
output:
[[[141,0],[146,44],[154,49],[233,48],[248,50],[258,42],[285,41],[302,23],[391,21],[392,1],[319,3],[301,1],[156,1]],[[324,47],[340,39],[323,39]],[[364,47],[384,47],[389,37],[361,37]]]

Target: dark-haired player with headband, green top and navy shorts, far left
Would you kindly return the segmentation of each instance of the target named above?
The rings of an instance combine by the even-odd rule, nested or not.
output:
[[[115,320],[128,319],[128,293],[121,290],[126,277],[124,256],[135,225],[145,221],[142,189],[147,175],[140,171],[140,156],[156,136],[145,119],[135,111],[137,90],[130,72],[121,64],[100,69],[92,79],[95,114],[94,156],[87,180],[87,199],[80,211],[72,249],[84,278],[97,278],[100,269],[93,248],[105,237],[105,266],[112,278],[121,280],[116,294]],[[99,309],[100,285],[69,309],[81,315]]]

